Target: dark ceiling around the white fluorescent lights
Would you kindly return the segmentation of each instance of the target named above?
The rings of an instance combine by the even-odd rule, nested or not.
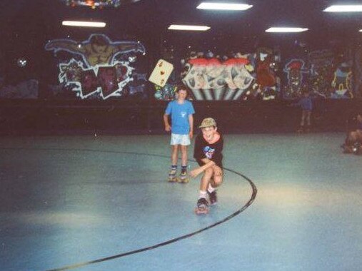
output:
[[[270,26],[301,26],[310,29],[304,36],[358,36],[362,14],[323,12],[336,1],[327,0],[247,0],[248,11],[205,11],[196,6],[200,0],[140,0],[119,8],[90,9],[70,7],[61,0],[1,1],[1,30],[7,37],[54,39],[64,35],[87,36],[102,32],[114,38],[155,39],[159,36],[221,36],[226,39],[270,36]],[[230,1],[229,1],[230,2]],[[231,1],[236,2],[236,1]],[[240,1],[238,1],[240,2]],[[346,4],[346,1],[340,1]],[[353,3],[353,2],[351,2]],[[356,4],[356,2],[355,2]],[[105,21],[106,29],[74,29],[61,26],[65,19]],[[211,26],[206,33],[167,31],[169,24],[203,24]],[[275,35],[275,34],[274,34]],[[296,35],[296,34],[293,34]],[[362,35],[362,34],[361,34]]]

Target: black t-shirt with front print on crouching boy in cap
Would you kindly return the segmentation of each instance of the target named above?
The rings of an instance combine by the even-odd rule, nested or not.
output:
[[[220,168],[223,167],[223,136],[221,133],[219,134],[220,138],[213,144],[208,143],[203,138],[202,133],[196,136],[193,158],[196,159],[198,165],[204,165],[205,163],[201,159],[208,158],[208,160],[213,161]]]

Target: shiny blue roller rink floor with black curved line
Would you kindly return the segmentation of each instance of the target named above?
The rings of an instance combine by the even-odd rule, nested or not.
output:
[[[362,270],[344,136],[224,135],[208,215],[199,178],[167,182],[167,135],[1,136],[0,270]]]

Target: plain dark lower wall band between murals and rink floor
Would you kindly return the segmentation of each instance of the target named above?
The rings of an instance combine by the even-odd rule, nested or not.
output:
[[[287,133],[296,131],[301,109],[288,101],[193,102],[195,127],[203,118],[216,118],[225,133]],[[164,133],[166,102],[98,103],[81,101],[1,101],[0,133],[124,134]],[[346,122],[359,100],[314,101],[313,131],[346,131]],[[197,130],[197,129],[196,129]]]

